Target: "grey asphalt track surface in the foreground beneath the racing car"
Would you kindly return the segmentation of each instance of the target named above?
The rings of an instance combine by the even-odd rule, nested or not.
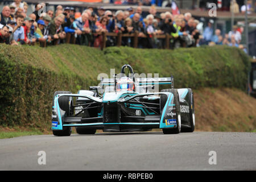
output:
[[[46,164],[38,164],[39,151],[45,151]],[[216,152],[217,164],[209,164],[210,151]],[[99,133],[0,139],[0,170],[256,170],[256,133]]]

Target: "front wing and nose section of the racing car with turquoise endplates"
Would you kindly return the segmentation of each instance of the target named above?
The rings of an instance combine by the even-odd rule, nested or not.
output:
[[[167,102],[163,111],[160,111],[159,96],[165,94]],[[85,98],[80,104],[75,103],[68,115],[59,106],[60,97]],[[148,97],[148,99],[147,99]],[[154,102],[154,100],[156,100]],[[71,99],[72,101],[72,99]],[[69,101],[69,102],[71,102]],[[63,127],[86,126],[93,129],[108,129],[113,131],[125,131],[127,129],[153,129],[176,127],[176,105],[174,94],[160,93],[123,93],[117,101],[108,102],[102,98],[81,94],[58,94],[54,98],[52,106],[52,130],[63,130]],[[69,103],[70,104],[70,103]],[[78,109],[77,109],[78,107]],[[82,113],[89,110],[89,117]]]

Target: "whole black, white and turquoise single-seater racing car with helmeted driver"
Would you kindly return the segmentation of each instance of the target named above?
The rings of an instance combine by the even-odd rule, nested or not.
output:
[[[129,74],[125,74],[125,70]],[[170,89],[152,92],[156,85]],[[121,76],[101,78],[98,86],[77,94],[57,91],[53,96],[52,131],[56,136],[162,129],[164,134],[193,132],[195,107],[192,89],[174,89],[174,78],[136,77],[130,65]]]

